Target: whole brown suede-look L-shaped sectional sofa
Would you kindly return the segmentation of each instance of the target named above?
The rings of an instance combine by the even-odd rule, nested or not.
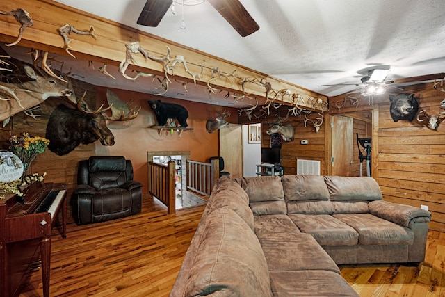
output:
[[[357,296],[337,264],[421,262],[429,221],[370,177],[222,177],[170,296]]]

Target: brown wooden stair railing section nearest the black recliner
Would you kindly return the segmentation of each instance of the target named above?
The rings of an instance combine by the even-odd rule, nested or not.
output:
[[[168,214],[175,214],[175,166],[174,161],[148,162],[148,191],[167,206]]]

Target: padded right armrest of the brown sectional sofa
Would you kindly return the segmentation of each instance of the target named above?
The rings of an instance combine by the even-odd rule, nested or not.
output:
[[[369,202],[368,207],[369,212],[374,216],[389,220],[404,227],[408,227],[411,220],[419,223],[428,223],[431,221],[431,214],[428,211],[410,205],[375,200]]]

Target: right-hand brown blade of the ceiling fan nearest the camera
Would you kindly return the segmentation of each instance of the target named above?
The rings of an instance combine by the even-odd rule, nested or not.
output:
[[[243,4],[238,0],[207,0],[222,15],[229,24],[245,37],[259,29],[259,25],[245,10]]]

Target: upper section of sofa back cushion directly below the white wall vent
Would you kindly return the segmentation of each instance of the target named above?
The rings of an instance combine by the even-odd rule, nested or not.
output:
[[[287,201],[329,200],[329,192],[321,175],[283,175],[282,184]]]

